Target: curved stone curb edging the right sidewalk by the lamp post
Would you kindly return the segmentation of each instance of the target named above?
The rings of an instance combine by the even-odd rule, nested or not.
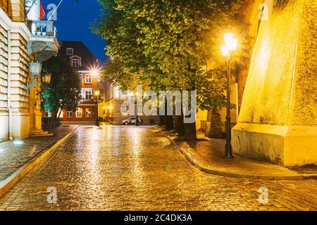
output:
[[[158,128],[156,128],[158,129]],[[226,176],[226,177],[232,177],[232,178],[246,178],[246,179],[262,179],[262,180],[275,180],[275,181],[301,181],[301,180],[307,180],[307,179],[317,179],[317,174],[299,174],[299,175],[293,175],[293,176],[266,176],[266,175],[256,175],[256,174],[237,174],[232,172],[224,172],[216,169],[208,169],[206,167],[203,167],[199,165],[199,162],[192,156],[192,154],[188,153],[186,150],[184,150],[182,147],[178,146],[177,143],[173,139],[170,138],[167,134],[165,134],[161,129],[158,129],[170,143],[177,148],[182,155],[185,156],[185,158],[192,164],[194,167],[197,167],[201,172],[205,172],[206,174],[213,174],[216,176]]]

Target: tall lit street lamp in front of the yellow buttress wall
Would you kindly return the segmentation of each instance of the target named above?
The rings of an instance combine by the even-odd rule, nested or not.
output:
[[[231,115],[230,115],[230,65],[233,53],[237,49],[237,39],[232,34],[224,34],[225,45],[221,46],[221,53],[227,58],[227,116],[225,121],[225,155],[223,158],[234,158],[231,146]]]

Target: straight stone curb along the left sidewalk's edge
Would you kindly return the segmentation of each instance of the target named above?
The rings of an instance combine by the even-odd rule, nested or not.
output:
[[[56,148],[60,147],[63,143],[66,143],[77,131],[80,126],[78,125],[70,131],[66,136],[53,144],[53,146],[49,146],[46,150],[42,151],[42,154],[35,156],[30,161],[28,161],[23,167],[20,167],[17,171],[15,171],[11,176],[8,176],[7,179],[0,182],[0,198],[4,196],[15,184],[20,181],[26,174],[28,174],[35,166],[39,165],[48,155],[50,155]],[[43,153],[44,152],[44,153]]]

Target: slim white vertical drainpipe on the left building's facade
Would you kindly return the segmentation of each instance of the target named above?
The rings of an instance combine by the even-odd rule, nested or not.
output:
[[[13,140],[13,118],[11,105],[11,30],[8,30],[8,136]]]

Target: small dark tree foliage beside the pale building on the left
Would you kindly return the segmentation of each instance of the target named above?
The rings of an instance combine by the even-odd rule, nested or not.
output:
[[[61,57],[52,57],[43,63],[43,73],[51,73],[51,83],[42,84],[42,105],[45,110],[54,113],[58,109],[75,111],[81,99],[81,82],[77,72]]]

